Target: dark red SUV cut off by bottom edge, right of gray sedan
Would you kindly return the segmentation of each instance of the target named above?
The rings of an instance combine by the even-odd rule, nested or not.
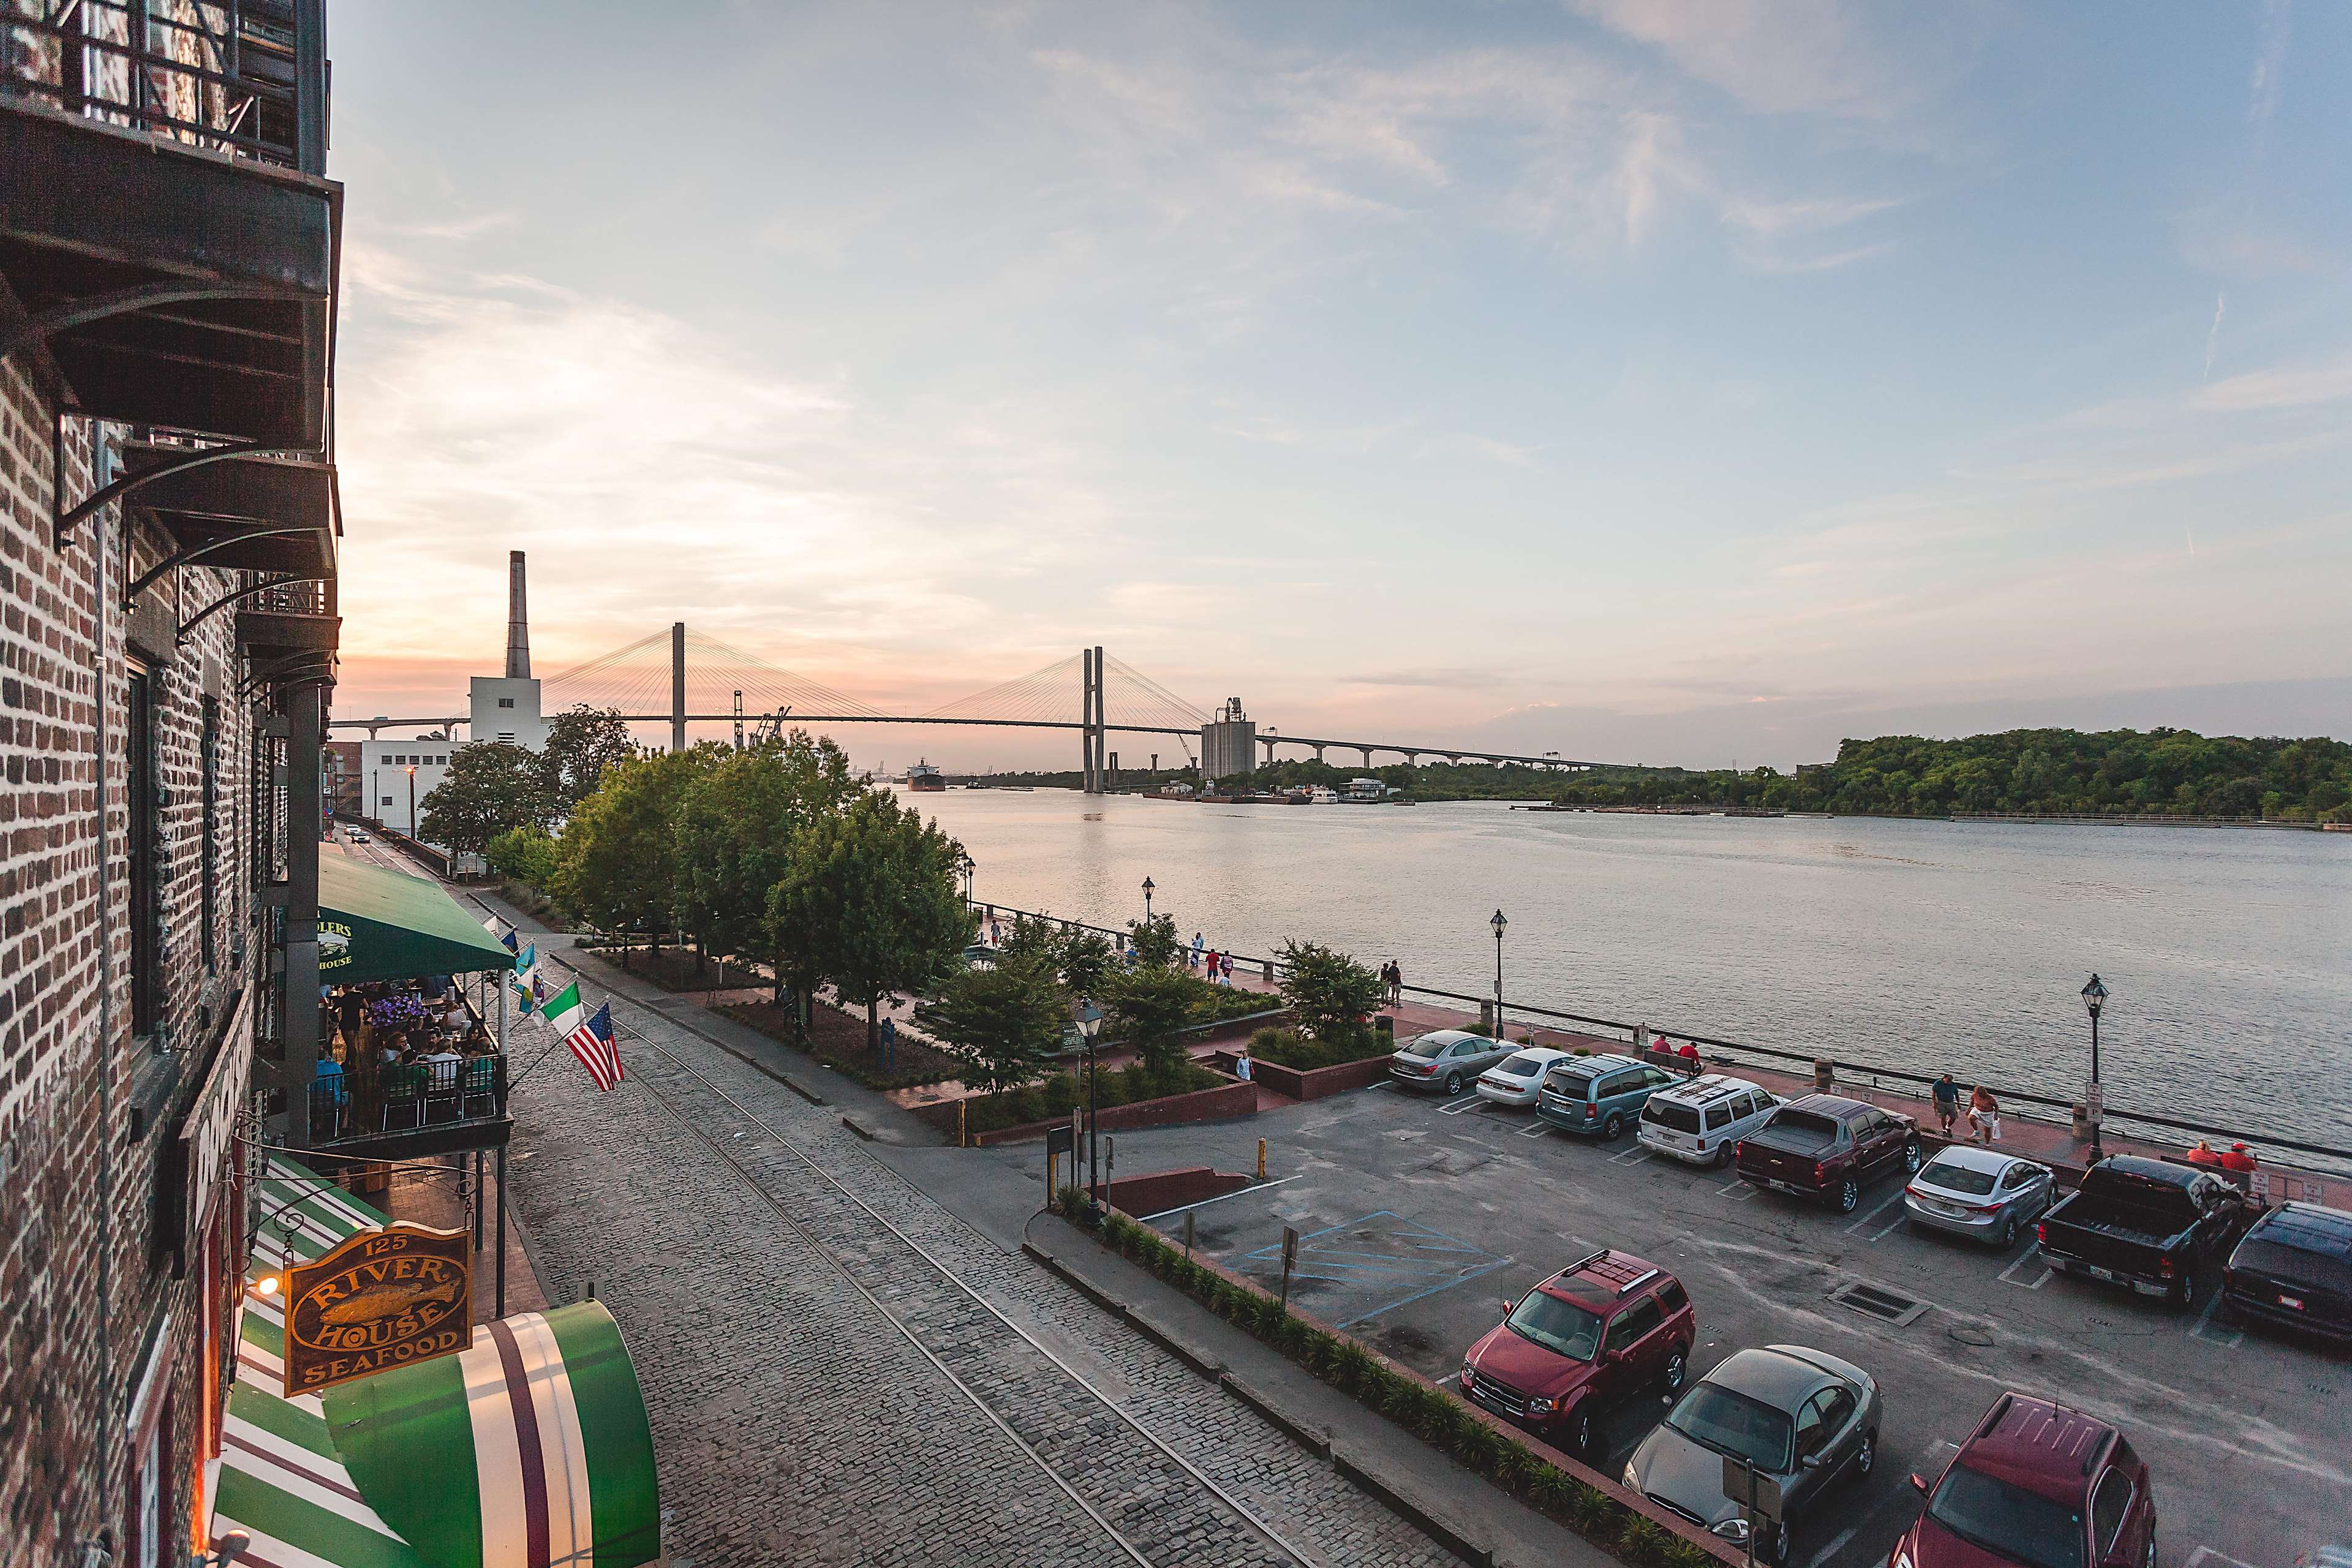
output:
[[[2032,1394],[1976,1422],[1889,1568],[2157,1568],[2157,1502],[2124,1434]]]

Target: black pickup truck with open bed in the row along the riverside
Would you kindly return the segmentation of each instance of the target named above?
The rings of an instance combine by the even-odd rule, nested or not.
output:
[[[2117,1154],[2091,1166],[2037,1234],[2053,1269],[2187,1307],[2206,1260],[2227,1255],[2258,1213],[2211,1171]]]

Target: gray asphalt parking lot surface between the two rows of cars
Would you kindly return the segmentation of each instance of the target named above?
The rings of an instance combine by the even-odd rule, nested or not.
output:
[[[1693,1378],[1776,1342],[1875,1373],[1884,1458],[1797,1526],[1790,1561],[1804,1568],[1884,1563],[1917,1516],[1907,1476],[1933,1479],[2002,1389],[2060,1399],[2131,1436],[2154,1474],[2169,1568],[2286,1568],[2352,1537],[2352,1366],[2223,1328],[2211,1286],[2176,1314],[2051,1274],[2030,1234],[2006,1253],[1910,1234],[1900,1178],[1839,1218],[1658,1159],[1630,1135],[1588,1143],[1475,1095],[1381,1086],[1244,1124],[1122,1133],[1117,1166],[1244,1171],[1258,1138],[1272,1180],[1195,1208],[1200,1251],[1272,1288],[1282,1227],[1296,1227],[1291,1300],[1430,1378],[1458,1373],[1501,1298],[1602,1246],[1684,1279],[1698,1307]],[[1875,1288],[1875,1312],[1837,1300],[1856,1284]],[[1616,1474],[1663,1408],[1656,1396],[1618,1408],[1597,1465]]]

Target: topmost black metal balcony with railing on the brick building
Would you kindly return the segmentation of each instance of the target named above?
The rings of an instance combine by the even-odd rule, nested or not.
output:
[[[0,357],[78,411],[325,451],[341,188],[322,0],[0,12]]]

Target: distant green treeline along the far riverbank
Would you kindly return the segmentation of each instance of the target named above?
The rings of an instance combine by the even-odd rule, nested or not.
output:
[[[2263,816],[2352,820],[2352,745],[2199,736],[2187,729],[2011,729],[1997,736],[1844,741],[1837,762],[1773,769],[1595,769],[1562,776],[1531,766],[1388,764],[1376,769],[1275,762],[1247,790],[1345,788],[1378,778],[1406,799],[1529,799],[1566,806],[1764,806],[1839,816]],[[997,776],[1002,783],[1077,785],[1077,773]],[[1176,773],[1127,771],[1120,788]]]

